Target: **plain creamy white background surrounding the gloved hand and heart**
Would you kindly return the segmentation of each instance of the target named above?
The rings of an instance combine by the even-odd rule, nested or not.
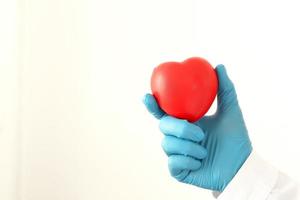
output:
[[[191,56],[227,66],[254,149],[300,181],[299,9],[1,0],[0,199],[212,199],[169,176],[142,104],[153,67]]]

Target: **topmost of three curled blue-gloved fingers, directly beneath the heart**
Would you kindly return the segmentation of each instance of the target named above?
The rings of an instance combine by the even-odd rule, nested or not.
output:
[[[204,138],[202,129],[187,120],[177,119],[171,116],[163,117],[159,123],[160,130],[165,135],[200,142]]]

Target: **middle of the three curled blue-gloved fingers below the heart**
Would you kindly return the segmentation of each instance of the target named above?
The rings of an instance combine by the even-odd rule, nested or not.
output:
[[[165,136],[161,146],[167,155],[184,155],[195,159],[203,159],[207,156],[206,149],[200,144],[173,136]]]

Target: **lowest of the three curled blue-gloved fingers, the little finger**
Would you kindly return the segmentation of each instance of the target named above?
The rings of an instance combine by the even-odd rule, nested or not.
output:
[[[183,155],[172,155],[169,157],[168,167],[172,176],[177,177],[182,172],[199,169],[201,161]]]

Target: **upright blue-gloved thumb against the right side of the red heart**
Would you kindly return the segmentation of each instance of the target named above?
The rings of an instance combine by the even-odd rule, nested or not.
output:
[[[219,81],[218,110],[226,111],[232,106],[238,105],[237,95],[234,85],[227,75],[225,66],[218,65],[216,72]]]

